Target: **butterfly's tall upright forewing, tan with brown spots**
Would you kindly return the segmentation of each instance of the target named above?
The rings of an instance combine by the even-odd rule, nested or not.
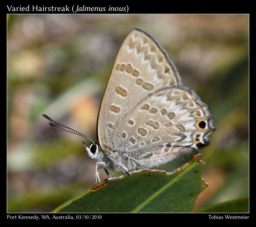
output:
[[[176,85],[178,73],[149,34],[134,28],[124,39],[114,62],[98,116],[102,149],[111,147],[113,131],[131,105],[160,87]]]

